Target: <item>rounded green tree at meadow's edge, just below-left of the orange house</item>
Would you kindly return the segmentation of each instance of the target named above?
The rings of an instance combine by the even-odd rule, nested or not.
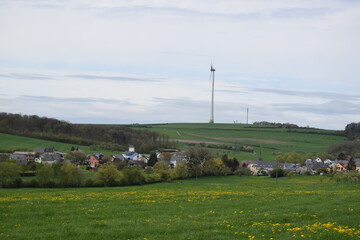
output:
[[[83,179],[80,169],[69,162],[61,166],[59,175],[63,187],[79,187]]]

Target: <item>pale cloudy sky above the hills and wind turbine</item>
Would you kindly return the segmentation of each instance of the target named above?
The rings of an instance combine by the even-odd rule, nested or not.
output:
[[[0,0],[0,112],[72,123],[360,121],[360,1]]]

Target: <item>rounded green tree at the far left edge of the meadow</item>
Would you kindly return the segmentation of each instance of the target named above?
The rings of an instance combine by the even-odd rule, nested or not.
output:
[[[12,161],[0,162],[0,184],[1,187],[14,186],[20,179],[20,168]]]

